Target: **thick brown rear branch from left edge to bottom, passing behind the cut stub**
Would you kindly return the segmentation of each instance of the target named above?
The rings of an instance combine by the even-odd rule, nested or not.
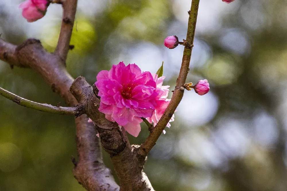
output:
[[[0,39],[1,52],[9,52],[6,59],[0,56],[1,60],[8,62],[10,65],[34,69],[51,86],[53,91],[64,98],[67,104],[70,106],[78,104],[69,91],[73,78],[67,73],[63,64],[64,61],[59,56],[46,52],[39,40],[28,39],[21,45],[15,46]],[[76,118],[75,122],[77,151],[79,154],[79,160],[73,169],[75,178],[87,190],[119,190],[119,186],[113,180],[110,170],[102,163],[102,157],[99,153],[100,140],[94,137],[96,135],[94,125],[88,123],[86,115]]]

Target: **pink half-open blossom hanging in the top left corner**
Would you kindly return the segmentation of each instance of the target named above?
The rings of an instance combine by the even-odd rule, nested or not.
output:
[[[34,22],[44,17],[49,2],[47,0],[27,0],[19,5],[22,15],[28,22]]]

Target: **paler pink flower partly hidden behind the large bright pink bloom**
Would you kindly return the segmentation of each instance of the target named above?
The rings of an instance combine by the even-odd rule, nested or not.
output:
[[[170,99],[167,99],[168,96],[168,91],[169,91],[169,85],[163,86],[163,80],[164,76],[158,77],[157,74],[152,74],[154,81],[156,82],[156,90],[158,92],[158,96],[156,97],[156,107],[154,112],[152,113],[152,117],[146,118],[148,122],[154,123],[154,126],[158,123],[160,120],[161,116],[163,115],[164,111],[166,110],[166,107],[168,106]],[[172,115],[171,119],[169,122],[174,121],[174,114]],[[167,127],[170,127],[170,123],[166,125]],[[165,133],[165,131],[164,131]]]

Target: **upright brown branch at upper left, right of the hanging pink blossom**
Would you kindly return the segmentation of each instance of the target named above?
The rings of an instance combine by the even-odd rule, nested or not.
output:
[[[77,0],[62,1],[62,5],[63,5],[62,25],[58,44],[54,53],[60,56],[60,58],[63,61],[66,61],[75,21],[75,14],[77,10]]]

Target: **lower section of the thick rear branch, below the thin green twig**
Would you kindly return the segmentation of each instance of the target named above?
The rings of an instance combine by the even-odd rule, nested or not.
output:
[[[73,169],[75,178],[87,190],[119,190],[112,172],[105,167],[102,160],[100,139],[96,136],[94,124],[87,123],[86,115],[79,118],[80,120],[76,120],[78,162]]]

